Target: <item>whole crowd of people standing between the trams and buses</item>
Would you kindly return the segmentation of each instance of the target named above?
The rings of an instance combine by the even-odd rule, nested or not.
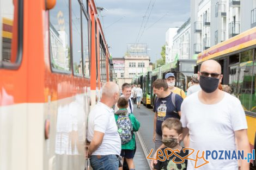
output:
[[[154,169],[194,169],[197,158],[183,148],[194,150],[244,150],[249,153],[247,123],[240,100],[230,95],[231,89],[221,85],[221,65],[214,60],[203,62],[198,74],[193,74],[185,93],[175,87],[174,73],[153,83],[156,95],[153,111],[155,149],[169,156],[164,161],[151,161]],[[133,112],[133,104],[140,108],[143,97],[140,85],[113,82],[102,88],[102,97],[90,111],[88,118],[87,156],[93,169],[135,169],[134,132],[140,123]],[[119,97],[120,96],[120,97]],[[114,110],[113,110],[114,108]],[[170,150],[177,150],[170,154]],[[177,156],[177,154],[179,156]],[[153,156],[156,158],[156,153]],[[198,169],[249,169],[246,160],[214,160]],[[200,161],[199,161],[200,164]]]

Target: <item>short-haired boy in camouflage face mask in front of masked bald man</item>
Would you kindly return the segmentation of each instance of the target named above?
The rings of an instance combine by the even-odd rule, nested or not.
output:
[[[167,118],[165,121],[163,121],[162,123],[162,142],[165,146],[167,146],[167,148],[170,148],[172,150],[175,149],[179,149],[180,153],[176,152],[176,154],[178,154],[181,158],[184,158],[185,156],[188,155],[188,150],[185,150],[185,153],[183,152],[183,148],[180,146],[180,142],[182,140],[182,125],[181,122],[178,118]],[[164,153],[164,149],[166,148],[162,148],[162,152]],[[170,155],[172,152],[170,150],[167,151],[168,155]],[[174,163],[172,161],[172,159],[176,157],[174,159],[175,162],[181,162],[182,160],[180,158],[178,158],[177,156],[175,156],[174,154],[172,156],[169,157],[169,160],[165,160],[165,161],[160,161],[157,160],[157,164],[154,166],[154,169],[161,169],[161,170],[186,170],[187,169],[187,160],[185,159],[184,163]],[[160,158],[162,159],[162,156],[160,156]]]

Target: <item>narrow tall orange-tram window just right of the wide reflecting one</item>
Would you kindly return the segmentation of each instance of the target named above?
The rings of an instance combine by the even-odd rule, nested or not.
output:
[[[72,59],[74,75],[82,72],[82,43],[81,43],[81,6],[77,0],[71,1],[72,11]]]

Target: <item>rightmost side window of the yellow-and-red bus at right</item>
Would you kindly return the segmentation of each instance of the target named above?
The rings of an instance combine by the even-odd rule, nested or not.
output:
[[[253,51],[241,53],[238,81],[239,99],[246,110],[252,108]]]

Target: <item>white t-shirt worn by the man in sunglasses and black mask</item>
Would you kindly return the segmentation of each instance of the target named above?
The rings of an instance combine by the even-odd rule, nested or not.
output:
[[[236,97],[225,93],[217,104],[203,104],[198,99],[198,92],[186,97],[181,104],[182,127],[190,133],[190,148],[195,152],[190,156],[196,159],[197,151],[202,156],[203,150],[236,150],[235,131],[247,129],[245,111]],[[224,154],[223,154],[224,155]],[[220,156],[220,153],[218,153]],[[200,169],[238,169],[237,160],[212,160]],[[199,159],[197,165],[205,161]],[[187,170],[194,169],[194,161],[188,160]]]

